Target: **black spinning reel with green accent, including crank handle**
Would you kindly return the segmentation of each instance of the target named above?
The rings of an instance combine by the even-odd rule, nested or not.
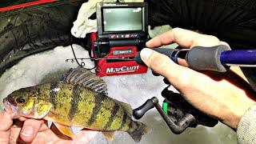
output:
[[[164,81],[166,82],[166,79]],[[210,118],[191,106],[189,102],[182,98],[182,94],[168,90],[169,87],[167,86],[162,90],[162,97],[165,98],[162,106],[159,105],[158,98],[150,98],[142,106],[133,110],[134,118],[142,118],[148,110],[155,107],[174,134],[182,134],[188,127],[198,125],[213,127],[218,124],[218,120]]]

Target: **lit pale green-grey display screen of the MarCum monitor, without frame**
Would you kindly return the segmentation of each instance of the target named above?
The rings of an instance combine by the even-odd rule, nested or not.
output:
[[[142,7],[104,8],[103,31],[138,31],[143,30]]]

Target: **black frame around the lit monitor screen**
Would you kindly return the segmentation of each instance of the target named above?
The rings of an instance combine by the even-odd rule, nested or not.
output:
[[[142,30],[125,30],[125,31],[104,31],[103,9],[104,8],[142,8]],[[97,4],[97,28],[98,37],[107,38],[110,34],[139,34],[147,35],[148,33],[148,6],[146,2],[129,2],[129,3],[98,3]]]

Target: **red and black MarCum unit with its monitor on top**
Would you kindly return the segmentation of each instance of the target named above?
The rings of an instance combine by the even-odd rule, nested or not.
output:
[[[98,33],[90,34],[99,76],[146,73],[134,61],[148,38],[147,3],[98,3]]]

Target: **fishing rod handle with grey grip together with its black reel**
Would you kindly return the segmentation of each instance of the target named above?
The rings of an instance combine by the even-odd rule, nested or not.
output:
[[[166,48],[153,50],[165,54],[182,66],[189,66],[194,70],[226,72],[230,66],[256,67],[256,50],[230,50],[227,46],[195,46],[190,50]],[[145,65],[139,53],[134,59],[139,64]],[[165,98],[162,106],[159,105],[158,98],[150,98],[142,106],[133,110],[134,118],[142,118],[148,110],[155,107],[174,134],[182,134],[188,127],[198,125],[213,127],[218,124],[218,120],[210,118],[190,105],[189,102],[186,102],[182,98],[182,94],[168,90],[170,82],[166,81],[166,78],[164,82],[169,86],[162,90],[162,97]]]

